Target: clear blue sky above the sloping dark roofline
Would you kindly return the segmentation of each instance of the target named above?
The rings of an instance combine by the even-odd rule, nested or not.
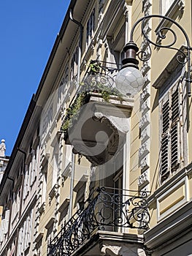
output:
[[[70,0],[0,1],[0,140],[10,155]]]

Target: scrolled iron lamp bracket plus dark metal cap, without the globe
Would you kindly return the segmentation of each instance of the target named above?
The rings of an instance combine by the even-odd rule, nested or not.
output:
[[[161,18],[164,20],[168,20],[170,26],[162,26],[160,27],[157,31],[155,31],[156,34],[156,41],[153,42],[147,32],[145,31],[145,24],[152,18]],[[145,41],[147,43],[147,47],[148,47],[148,52],[146,53],[145,50],[139,50],[139,48],[137,48],[136,43],[133,40],[134,37],[134,30],[136,29],[136,27],[139,25],[139,23],[141,23],[141,30],[142,30],[142,36],[145,38]],[[183,36],[185,37],[185,43],[186,46],[184,48],[184,50],[178,49],[176,47],[174,47],[174,45],[177,42],[177,34],[174,31],[174,29],[171,28],[172,25],[175,25],[177,27],[177,29],[179,29],[179,31],[182,32]],[[166,45],[163,45],[162,42],[165,42],[164,39],[167,38],[168,36],[168,32],[170,32],[172,34],[172,41],[169,42]],[[169,33],[169,34],[170,34]],[[140,18],[139,20],[137,20],[136,23],[134,23],[134,26],[131,29],[131,35],[130,35],[130,41],[126,44],[124,51],[126,53],[126,59],[124,59],[123,62],[123,67],[136,67],[138,69],[138,64],[139,61],[137,61],[137,58],[140,61],[148,61],[151,56],[152,56],[152,50],[150,45],[155,46],[155,48],[166,48],[166,49],[171,49],[171,50],[177,50],[178,55],[176,57],[177,61],[179,64],[185,65],[187,64],[187,69],[186,69],[186,87],[187,87],[187,93],[188,93],[188,97],[191,97],[191,45],[190,45],[190,40],[188,37],[188,34],[186,33],[185,29],[183,29],[182,26],[180,26],[179,23],[177,23],[175,20],[173,20],[172,18],[163,16],[163,15],[147,15],[145,17]]]

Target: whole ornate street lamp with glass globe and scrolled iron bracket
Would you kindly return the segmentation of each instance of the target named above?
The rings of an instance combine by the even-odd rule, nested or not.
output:
[[[177,35],[174,32],[173,29],[170,27],[162,26],[158,31],[156,32],[158,40],[156,42],[153,42],[149,39],[148,35],[145,32],[145,23],[150,20],[151,18],[161,18],[163,20],[168,20],[172,24],[176,25],[178,29],[183,33],[185,40],[186,40],[186,46],[184,47],[184,50],[174,48],[174,44],[177,41]],[[146,42],[148,44],[148,47],[150,49],[150,54],[146,54],[145,51],[140,50],[137,47],[136,43],[134,43],[133,40],[133,34],[134,29],[137,27],[137,25],[141,23],[141,29],[142,29],[142,36],[145,37]],[[163,39],[166,39],[166,32],[171,31],[173,40],[168,45],[162,45],[161,42]],[[117,89],[123,93],[123,94],[137,94],[144,84],[144,79],[142,77],[142,73],[139,71],[139,61],[136,59],[138,57],[141,61],[147,61],[151,57],[151,48],[150,45],[154,45],[156,48],[167,48],[172,50],[177,50],[179,54],[177,55],[177,61],[185,65],[187,64],[187,70],[186,70],[186,86],[187,86],[187,93],[188,97],[191,97],[191,45],[190,40],[188,38],[188,35],[186,34],[185,30],[182,26],[180,26],[179,23],[177,23],[175,20],[172,20],[172,18],[165,17],[163,15],[147,15],[145,17],[140,18],[137,20],[136,23],[134,23],[134,26],[131,29],[131,36],[130,41],[127,43],[125,48],[123,49],[126,53],[126,59],[123,59],[122,61],[122,68],[120,69],[120,72],[118,72],[118,75],[116,76],[116,86]]]

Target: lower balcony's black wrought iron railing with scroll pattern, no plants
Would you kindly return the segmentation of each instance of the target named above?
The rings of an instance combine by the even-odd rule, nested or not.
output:
[[[96,230],[118,231],[126,227],[147,229],[150,221],[147,193],[97,188],[86,200],[85,208],[77,211],[50,241],[47,256],[72,255]]]

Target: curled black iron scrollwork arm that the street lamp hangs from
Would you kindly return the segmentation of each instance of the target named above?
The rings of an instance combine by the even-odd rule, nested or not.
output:
[[[148,23],[150,20],[153,18],[160,18],[161,20],[166,20],[167,25],[166,26],[159,26],[158,30],[155,31],[156,34],[156,41],[154,42],[152,39],[149,37],[149,33],[145,31],[145,25]],[[134,26],[131,29],[131,35],[130,35],[130,41],[126,45],[128,48],[129,45],[132,45],[134,43],[133,37],[134,37],[134,30],[136,27],[141,24],[141,31],[142,31],[142,36],[145,38],[145,42],[147,43],[147,53],[145,50],[139,50],[137,52],[137,57],[141,61],[148,61],[152,55],[152,50],[150,45],[155,46],[155,48],[166,48],[166,49],[171,49],[171,50],[177,50],[177,61],[178,63],[185,65],[187,64],[187,70],[186,70],[186,78],[185,81],[187,82],[187,91],[188,91],[188,97],[191,97],[191,45],[190,45],[190,40],[188,37],[188,34],[186,33],[185,29],[183,29],[182,26],[180,26],[179,23],[177,23],[175,20],[172,18],[163,16],[163,15],[146,15],[145,17],[140,18],[137,20],[136,23],[134,23]],[[172,26],[175,27],[172,27]],[[174,31],[174,28],[177,28],[176,31],[181,34],[183,34],[183,37],[185,38],[185,43],[186,45],[183,48],[177,48],[174,47],[174,45],[177,42],[177,33]],[[168,42],[169,38],[170,41]],[[166,44],[164,44],[166,42]],[[125,47],[125,48],[126,48]]]

